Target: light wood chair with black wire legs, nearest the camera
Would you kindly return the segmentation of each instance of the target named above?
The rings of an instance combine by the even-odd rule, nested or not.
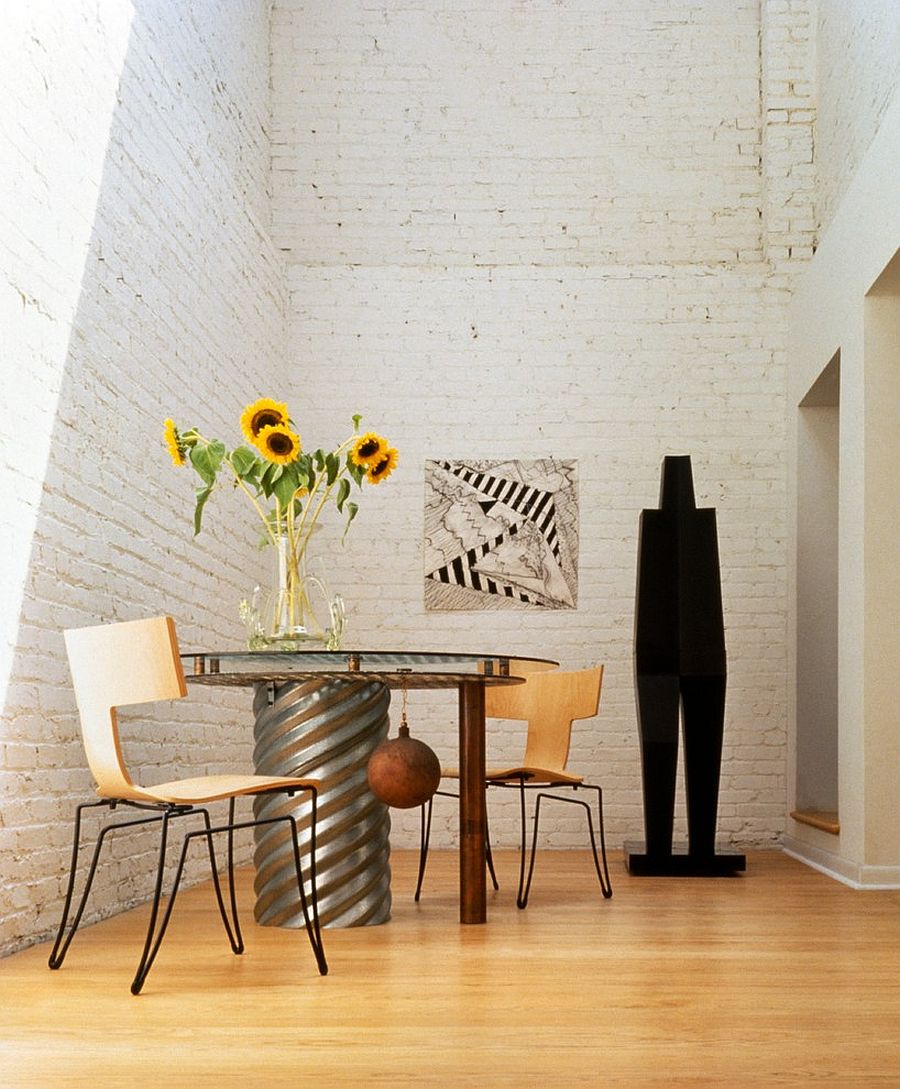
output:
[[[90,886],[97,871],[104,843],[117,829],[135,828],[145,824],[160,825],[160,840],[156,870],[156,884],[150,905],[150,917],[144,950],[137,965],[137,970],[131,984],[132,994],[138,994],[144,986],[175,903],[179,884],[184,870],[187,851],[193,840],[206,841],[209,865],[212,874],[212,886],[216,901],[224,925],[226,934],[235,954],[243,953],[244,941],[238,918],[238,904],[234,891],[234,832],[239,829],[275,824],[283,822],[290,830],[288,849],[293,852],[296,871],[297,893],[303,920],[309,944],[316,958],[319,972],[328,971],[325,947],[319,927],[318,903],[316,896],[316,804],[318,782],[315,779],[277,778],[272,775],[254,775],[242,773],[226,773],[217,775],[198,775],[191,779],[178,779],[155,786],[143,786],[131,775],[125,766],[122,746],[119,739],[119,723],[117,709],[119,707],[150,703],[157,700],[180,699],[187,695],[184,683],[184,672],[179,656],[175,626],[171,616],[157,616],[149,620],[126,621],[117,624],[101,624],[92,627],[72,628],[63,633],[65,649],[69,656],[69,666],[75,700],[78,707],[82,739],[90,773],[94,776],[99,802],[86,802],[76,807],[74,842],[72,860],[69,871],[69,884],[62,910],[59,931],[50,954],[49,965],[59,968],[62,965],[69,945],[75,937],[75,931],[84,914]],[[290,812],[265,819],[235,820],[235,802],[239,797],[262,794],[305,795],[308,797],[308,822],[302,818],[304,839],[308,847],[306,880],[309,893],[304,889],[304,874],[301,867],[300,836],[297,821]],[[228,820],[214,824],[207,806],[215,802],[229,803]],[[107,822],[99,829],[94,844],[90,866],[85,878],[84,890],[77,908],[71,916],[74,897],[78,855],[81,851],[83,813],[86,809],[106,809]],[[126,820],[110,820],[109,816],[120,809],[136,812],[139,816]],[[161,909],[163,871],[166,868],[169,827],[172,821],[191,815],[199,816],[202,827],[187,831],[182,839],[181,855],[175,867],[172,888],[168,904]],[[227,852],[229,910],[222,895],[219,879],[219,867],[214,848],[214,836],[224,833]]]

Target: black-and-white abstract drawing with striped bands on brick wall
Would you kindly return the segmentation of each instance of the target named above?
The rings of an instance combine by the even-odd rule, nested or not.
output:
[[[425,608],[574,609],[575,462],[425,463]]]

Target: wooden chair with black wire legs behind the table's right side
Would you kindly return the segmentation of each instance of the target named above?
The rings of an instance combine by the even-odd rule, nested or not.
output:
[[[488,685],[485,688],[486,718],[513,719],[527,722],[525,754],[522,763],[511,768],[488,769],[485,774],[486,788],[496,786],[519,791],[521,849],[519,860],[519,891],[515,896],[518,907],[523,908],[528,902],[540,823],[540,805],[543,802],[548,800],[572,803],[585,810],[587,829],[591,836],[591,848],[594,856],[594,867],[599,878],[600,892],[605,900],[608,900],[612,895],[612,885],[609,880],[609,867],[606,858],[603,790],[596,784],[585,783],[582,775],[576,775],[568,769],[572,723],[579,719],[593,718],[597,713],[600,702],[603,675],[603,665],[595,665],[592,669],[572,672],[539,671],[526,674],[523,684]],[[459,770],[455,768],[442,768],[441,775],[446,779],[459,779]],[[572,794],[549,793],[562,788],[571,790]],[[527,821],[525,796],[527,791],[536,791],[537,794],[532,818],[531,857],[526,874]],[[591,805],[583,798],[574,797],[574,794],[579,791],[588,791],[596,798],[596,833]],[[449,797],[458,796],[450,791],[438,791],[437,793]],[[418,879],[415,890],[416,901],[422,893],[422,882],[425,877],[425,866],[428,858],[431,800],[423,805],[419,812],[421,839]],[[490,841],[487,835],[485,842],[485,860],[494,881],[494,888],[497,889],[498,883],[494,871]]]

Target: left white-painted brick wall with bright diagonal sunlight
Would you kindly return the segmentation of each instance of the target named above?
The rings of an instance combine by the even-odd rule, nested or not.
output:
[[[56,923],[73,807],[90,793],[61,628],[170,612],[185,647],[241,637],[238,601],[260,562],[250,512],[215,497],[192,540],[194,481],[169,462],[162,419],[234,440],[241,407],[284,379],[268,4],[15,7],[0,36],[13,513],[0,952]],[[126,756],[148,782],[246,766],[248,720],[246,695],[130,712]],[[154,858],[151,837],[115,844],[95,903],[144,898]]]

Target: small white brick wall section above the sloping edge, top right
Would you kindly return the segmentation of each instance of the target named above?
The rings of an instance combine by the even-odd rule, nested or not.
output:
[[[900,86],[900,5],[818,0],[816,160],[825,231]]]

